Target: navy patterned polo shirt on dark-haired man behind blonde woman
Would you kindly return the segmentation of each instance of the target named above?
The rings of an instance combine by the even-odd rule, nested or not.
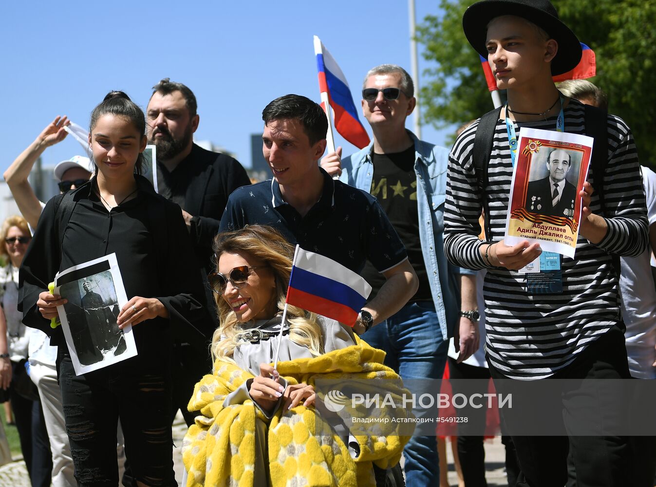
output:
[[[360,272],[369,259],[383,272],[405,260],[405,247],[376,198],[321,169],[323,193],[307,215],[283,200],[275,179],[239,188],[228,199],[220,230],[271,225],[291,243]]]

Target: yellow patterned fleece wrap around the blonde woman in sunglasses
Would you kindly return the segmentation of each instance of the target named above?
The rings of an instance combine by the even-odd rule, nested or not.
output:
[[[356,341],[356,345],[318,357],[280,362],[277,370],[289,384],[314,385],[316,379],[378,379],[376,383],[380,384],[384,379],[388,387],[383,392],[395,398],[407,392],[400,377],[382,364],[384,352],[358,338]],[[215,373],[205,375],[196,384],[188,408],[201,415],[182,443],[182,459],[189,474],[187,487],[253,486],[256,419],[268,425],[268,475],[273,487],[375,486],[372,462],[388,468],[400,460],[410,437],[399,436],[397,426],[391,423],[376,425],[375,435],[356,435],[360,453],[352,459],[340,436],[321,421],[314,406],[305,408],[301,403],[284,412],[279,408],[272,419],[267,419],[252,400],[224,408],[224,398],[252,378],[249,371],[219,359]],[[316,400],[321,400],[319,394]],[[357,411],[351,413],[358,417]],[[379,411],[382,417],[388,417],[387,413],[409,416],[398,406],[394,412],[385,408]],[[318,430],[320,434],[315,434]]]

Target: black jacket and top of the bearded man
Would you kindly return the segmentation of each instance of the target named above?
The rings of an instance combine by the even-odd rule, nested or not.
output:
[[[170,173],[163,164],[157,163],[159,194],[178,203],[194,217],[189,235],[194,247],[195,267],[203,282],[207,280],[207,274],[216,270],[212,261],[212,243],[228,196],[239,186],[248,184],[251,180],[236,159],[196,144]],[[209,287],[205,287],[207,291]],[[206,299],[213,302],[211,291],[207,291]]]

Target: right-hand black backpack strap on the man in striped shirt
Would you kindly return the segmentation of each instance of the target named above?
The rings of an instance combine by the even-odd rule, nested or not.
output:
[[[592,187],[599,199],[602,216],[605,217],[608,216],[604,201],[604,175],[608,165],[608,128],[606,119],[607,114],[604,110],[596,106],[585,105],[585,133],[588,137],[594,138],[592,158],[590,158],[592,174],[594,175],[594,179],[592,180],[594,184],[592,184]],[[611,259],[615,274],[619,279],[621,272],[619,255],[617,253],[611,253]]]

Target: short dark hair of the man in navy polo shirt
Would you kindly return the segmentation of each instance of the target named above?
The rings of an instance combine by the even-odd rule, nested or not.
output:
[[[284,119],[300,121],[311,145],[326,138],[328,119],[321,105],[310,98],[300,95],[280,96],[262,110],[264,125],[273,120]]]

